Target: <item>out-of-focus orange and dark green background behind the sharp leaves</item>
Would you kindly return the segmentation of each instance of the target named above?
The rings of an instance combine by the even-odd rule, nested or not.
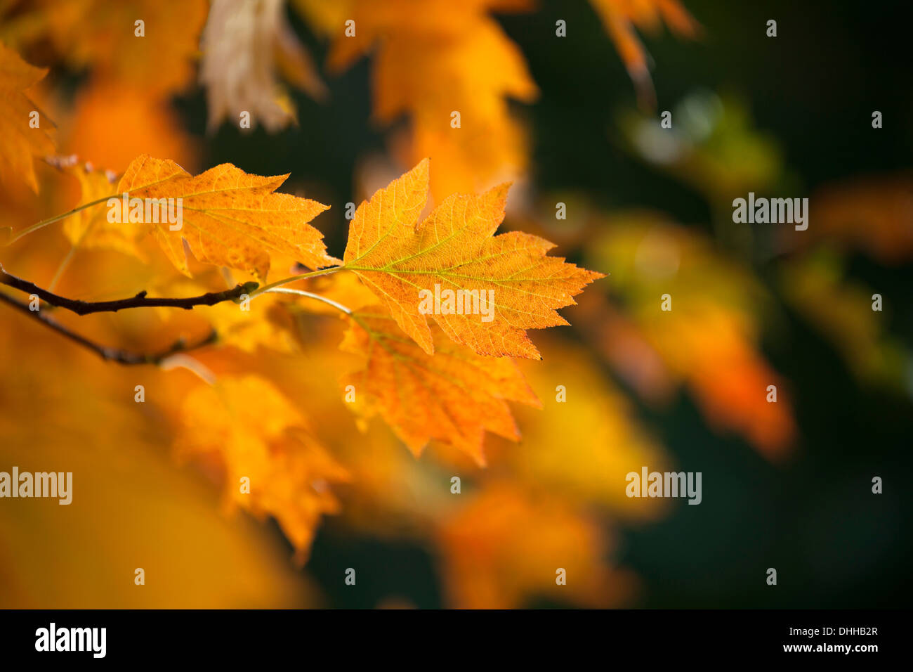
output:
[[[283,188],[331,204],[315,224],[337,254],[345,204],[430,154],[438,200],[513,179],[507,228],[539,233],[610,275],[563,311],[572,327],[533,333],[543,360],[523,370],[544,408],[515,409],[521,443],[488,435],[485,470],[446,445],[416,460],[380,421],[358,426],[334,382],[346,366],[336,320],[299,315],[279,337],[226,324],[231,316],[216,309],[194,311],[232,334],[200,355],[205,366],[274,381],[348,473],[333,486],[338,515],[308,530],[303,569],[290,560],[288,527],[223,515],[217,464],[172,458],[186,431],[180,402],[198,384],[190,372],[106,366],[4,313],[0,468],[53,461],[78,475],[71,507],[0,506],[0,604],[908,602],[913,92],[904,3],[686,0],[699,27],[680,15],[664,15],[656,27],[668,29],[656,32],[635,20],[652,84],[621,19],[625,8],[636,18],[638,5],[676,3],[476,0],[419,10],[394,0],[373,13],[359,0],[279,3],[276,16],[300,44],[277,57],[285,84],[268,112],[275,127],[250,132],[215,121],[215,87],[207,101],[195,68],[171,60],[179,42],[195,49],[205,3],[183,5],[180,22],[167,14],[174,3],[159,4],[172,32],[148,68],[148,51],[111,44],[100,20],[110,5],[79,0],[67,14],[55,0],[0,4],[0,38],[51,68],[34,95],[58,122],[61,152],[115,172],[149,152],[192,171],[230,162],[290,173]],[[132,24],[139,10],[124,6]],[[358,17],[357,43],[339,35],[348,16]],[[765,37],[770,18],[778,37]],[[567,37],[555,36],[558,19]],[[86,22],[95,32],[74,35]],[[435,51],[459,30],[479,44]],[[283,68],[283,59],[294,62]],[[449,124],[460,95],[477,113],[463,108],[456,142],[436,124]],[[666,110],[672,129],[658,123]],[[875,110],[883,129],[872,128]],[[72,207],[72,184],[47,166],[38,175],[42,197],[5,187],[0,224],[18,229]],[[749,191],[810,197],[809,229],[733,224],[732,198]],[[555,218],[559,202],[567,219]],[[15,264],[3,261],[47,284],[68,244],[59,230],[32,239]],[[114,298],[152,277],[117,252],[84,251],[60,292]],[[671,313],[659,311],[666,292]],[[884,312],[871,310],[872,293]],[[154,349],[198,332],[194,320],[95,315],[79,325]],[[156,390],[152,403],[131,402],[136,384]],[[771,384],[776,404],[765,400]],[[558,385],[566,403],[555,401]],[[624,475],[641,465],[702,472],[701,505],[628,499]],[[459,496],[452,475],[463,479]],[[142,589],[132,585],[140,566]],[[357,589],[343,583],[349,567]],[[558,567],[565,587],[555,585]],[[764,582],[769,567],[776,588]]]

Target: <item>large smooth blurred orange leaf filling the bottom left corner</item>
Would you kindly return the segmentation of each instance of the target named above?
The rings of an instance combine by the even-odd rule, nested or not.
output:
[[[24,348],[36,346],[42,357],[23,357]],[[0,461],[6,465],[0,470],[54,464],[74,474],[73,503],[59,507],[73,512],[66,521],[31,506],[34,500],[0,500],[4,608],[302,606],[304,577],[289,563],[285,542],[269,526],[222,515],[201,475],[163,450],[173,442],[163,414],[180,405],[188,385],[198,384],[191,374],[134,369],[131,384],[158,391],[147,403],[125,404],[122,369],[61,347],[42,326],[9,315],[0,329],[0,378]],[[30,417],[41,421],[22,421]],[[86,541],[111,539],[112,530],[116,542],[105,544],[103,553]],[[47,553],[7,552],[44,544]],[[167,580],[143,591],[132,569],[128,581],[117,571],[99,571],[135,567],[137,557],[147,580]],[[51,575],[57,580],[42,579]]]

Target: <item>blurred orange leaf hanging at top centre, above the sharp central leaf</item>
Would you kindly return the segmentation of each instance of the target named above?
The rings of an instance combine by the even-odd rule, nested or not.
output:
[[[521,176],[528,162],[523,124],[509,99],[531,102],[539,89],[526,60],[489,16],[525,11],[501,0],[297,0],[310,23],[333,37],[328,67],[339,72],[373,52],[373,111],[379,123],[409,120],[404,142],[392,142],[404,165],[431,156],[436,198],[476,191]],[[345,34],[344,19],[357,29]],[[458,127],[453,112],[459,112]],[[398,140],[398,139],[397,139]]]

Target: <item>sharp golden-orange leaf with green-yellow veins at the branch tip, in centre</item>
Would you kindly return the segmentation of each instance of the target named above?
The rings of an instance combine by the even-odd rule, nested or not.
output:
[[[472,293],[461,294],[467,306],[477,297],[477,310],[463,315],[438,314],[446,306],[432,311],[456,343],[479,355],[538,358],[525,330],[567,325],[555,309],[574,304],[584,285],[603,277],[546,256],[554,247],[548,240],[519,231],[493,236],[504,219],[508,187],[447,197],[419,222],[428,191],[425,160],[355,211],[343,268],[383,300],[396,324],[429,355],[435,347],[421,309],[424,291],[435,297]]]

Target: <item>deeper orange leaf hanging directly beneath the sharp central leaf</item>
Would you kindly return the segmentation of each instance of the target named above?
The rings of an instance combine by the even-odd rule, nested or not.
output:
[[[431,356],[380,306],[352,314],[341,349],[363,359],[342,380],[354,386],[356,408],[365,417],[380,413],[416,456],[436,440],[485,464],[486,431],[519,440],[507,402],[541,406],[509,357],[478,357],[441,336]]]

